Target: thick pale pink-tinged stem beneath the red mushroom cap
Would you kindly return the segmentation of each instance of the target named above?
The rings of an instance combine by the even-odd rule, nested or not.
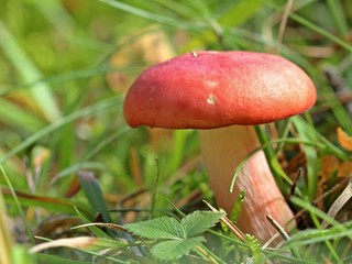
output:
[[[261,242],[271,239],[276,230],[266,220],[270,215],[282,227],[293,228],[294,215],[279,191],[262,151],[254,153],[244,164],[233,193],[230,184],[239,164],[260,146],[253,127],[232,125],[223,129],[200,130],[202,158],[210,177],[217,204],[231,213],[239,194],[246,191],[238,227],[255,235]]]

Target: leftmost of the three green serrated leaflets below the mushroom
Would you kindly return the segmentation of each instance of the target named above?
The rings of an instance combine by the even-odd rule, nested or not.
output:
[[[175,218],[161,217],[153,220],[128,223],[124,228],[145,239],[185,239],[185,230]]]

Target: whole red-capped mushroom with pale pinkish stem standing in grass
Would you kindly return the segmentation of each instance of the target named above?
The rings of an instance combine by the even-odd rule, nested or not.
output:
[[[294,215],[262,151],[230,184],[239,164],[260,146],[254,127],[301,113],[314,106],[316,88],[292,62],[254,52],[197,52],[146,69],[131,86],[124,118],[132,127],[197,129],[202,158],[219,207],[231,213],[246,195],[238,227],[265,242]],[[292,224],[292,227],[295,224]]]

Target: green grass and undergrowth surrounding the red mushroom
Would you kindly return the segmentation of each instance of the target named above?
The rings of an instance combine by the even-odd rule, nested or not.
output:
[[[175,243],[186,250],[170,263],[351,262],[351,199],[329,215],[352,172],[336,132],[352,134],[351,19],[348,0],[4,0],[0,262],[155,263],[153,252],[168,260],[162,246]],[[195,132],[132,130],[122,116],[124,92],[143,68],[197,50],[278,53],[318,89],[309,112],[258,130],[299,219],[280,249],[243,243],[223,224],[211,228],[216,220],[201,237],[177,233],[168,244],[123,228],[165,217],[193,226],[202,220],[191,213],[209,210],[202,199],[215,205]],[[88,226],[72,229],[80,224]],[[30,251],[44,241],[52,244]]]

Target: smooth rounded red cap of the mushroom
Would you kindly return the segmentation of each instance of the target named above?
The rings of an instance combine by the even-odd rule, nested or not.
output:
[[[213,129],[260,124],[301,113],[316,88],[292,62],[253,52],[198,52],[146,69],[130,88],[131,127]]]

